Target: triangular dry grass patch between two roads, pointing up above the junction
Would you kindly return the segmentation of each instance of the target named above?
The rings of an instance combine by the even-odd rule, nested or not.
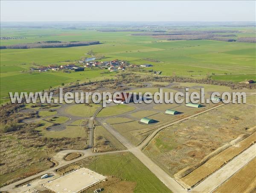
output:
[[[115,150],[125,150],[125,147],[104,127],[96,126],[94,129],[94,151],[106,152]]]

